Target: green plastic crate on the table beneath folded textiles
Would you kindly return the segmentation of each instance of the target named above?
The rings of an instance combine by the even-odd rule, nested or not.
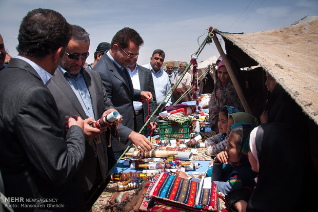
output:
[[[189,139],[190,138],[190,121],[183,124],[175,121],[158,121],[160,139]]]

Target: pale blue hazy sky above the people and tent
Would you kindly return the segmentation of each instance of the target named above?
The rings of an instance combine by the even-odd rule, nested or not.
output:
[[[17,54],[17,34],[22,18],[35,8],[61,13],[70,24],[90,33],[90,56],[97,45],[110,43],[123,27],[135,29],[144,39],[138,63],[149,63],[155,49],[166,53],[166,60],[190,61],[190,56],[207,35],[209,26],[226,32],[257,32],[290,26],[306,15],[318,16],[317,0],[241,1],[124,1],[124,0],[0,0],[0,33],[11,56]],[[218,57],[214,44],[207,45],[198,61]]]

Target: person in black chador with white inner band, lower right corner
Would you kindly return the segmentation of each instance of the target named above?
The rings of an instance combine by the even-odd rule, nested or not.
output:
[[[283,123],[261,124],[250,135],[249,161],[258,172],[246,211],[309,211],[316,176],[309,143]]]

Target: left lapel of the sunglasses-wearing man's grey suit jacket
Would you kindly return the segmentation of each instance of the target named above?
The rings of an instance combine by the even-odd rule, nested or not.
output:
[[[59,71],[59,69],[56,69],[54,75],[55,77],[52,77],[52,80],[59,87],[59,89],[61,89],[62,92],[65,93],[65,95],[69,98],[70,102],[73,104],[78,113],[81,114],[83,119],[86,119],[87,115],[83,110],[82,104],[79,103],[77,96],[75,95],[74,91],[70,87],[69,83],[67,82],[61,71]]]

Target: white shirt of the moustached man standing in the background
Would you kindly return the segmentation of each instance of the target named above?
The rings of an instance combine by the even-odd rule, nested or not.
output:
[[[156,94],[156,102],[157,104],[160,104],[164,100],[165,96],[168,94],[169,90],[171,89],[169,76],[167,72],[165,72],[163,69],[160,69],[157,73],[155,73],[150,63],[147,65],[144,65],[143,67],[151,70],[154,91]],[[171,96],[171,93],[165,100],[165,102],[167,102],[167,100],[169,99],[166,106],[172,104],[171,98],[169,98],[170,96]]]

